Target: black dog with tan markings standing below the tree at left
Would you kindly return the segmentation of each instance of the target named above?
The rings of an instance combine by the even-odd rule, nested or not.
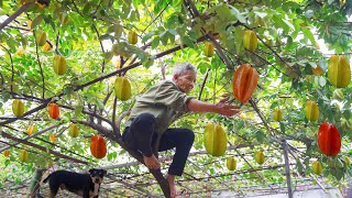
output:
[[[61,189],[67,189],[84,198],[98,198],[99,188],[103,175],[107,174],[105,169],[89,169],[89,174],[79,174],[66,170],[56,170],[50,174],[43,183],[48,180],[51,189],[50,198],[54,198]]]

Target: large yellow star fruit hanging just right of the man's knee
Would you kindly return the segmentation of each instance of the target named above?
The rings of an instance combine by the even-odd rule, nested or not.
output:
[[[228,139],[219,124],[208,123],[206,127],[204,143],[206,151],[212,156],[222,156],[227,151]]]

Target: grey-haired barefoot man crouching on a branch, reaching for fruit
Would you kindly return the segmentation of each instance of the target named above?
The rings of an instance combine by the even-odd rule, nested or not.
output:
[[[187,96],[195,87],[197,69],[194,65],[176,65],[172,81],[164,80],[154,85],[138,98],[122,135],[128,146],[142,153],[144,164],[150,169],[161,167],[155,156],[158,151],[176,147],[166,177],[170,197],[176,196],[175,176],[182,176],[184,172],[195,134],[189,129],[169,125],[187,112],[215,112],[226,117],[239,112],[239,107],[226,103],[229,98],[212,105]]]

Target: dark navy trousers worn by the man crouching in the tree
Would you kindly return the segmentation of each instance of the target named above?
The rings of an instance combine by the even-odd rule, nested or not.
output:
[[[140,151],[144,156],[152,156],[157,134],[154,132],[155,118],[150,113],[141,113],[135,117],[131,125],[124,129],[122,140],[133,148]],[[189,129],[167,129],[161,139],[158,151],[176,147],[173,163],[168,168],[169,175],[180,176],[184,173],[186,161],[195,141],[195,133]]]

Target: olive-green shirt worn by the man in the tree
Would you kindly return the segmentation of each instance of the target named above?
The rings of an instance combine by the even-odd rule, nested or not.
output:
[[[158,147],[161,136],[167,128],[189,111],[187,102],[190,99],[193,97],[182,92],[174,81],[165,80],[152,86],[141,97],[138,97],[130,118],[133,119],[144,112],[155,117],[155,132],[158,134],[158,140],[154,146]],[[131,121],[125,123],[127,127],[130,124]]]

